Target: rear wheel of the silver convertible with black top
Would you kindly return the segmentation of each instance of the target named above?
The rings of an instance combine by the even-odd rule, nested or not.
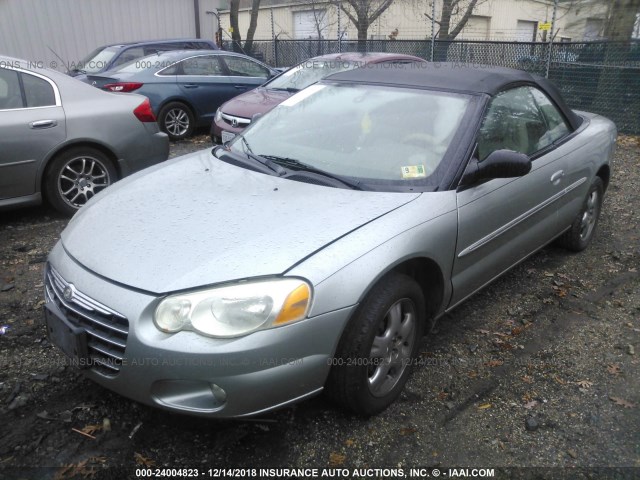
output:
[[[571,227],[558,238],[559,246],[574,252],[581,252],[589,246],[598,225],[603,195],[604,184],[600,177],[596,177]]]

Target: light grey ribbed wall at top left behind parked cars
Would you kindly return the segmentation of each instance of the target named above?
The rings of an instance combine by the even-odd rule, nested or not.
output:
[[[194,0],[1,0],[0,54],[62,70],[118,42],[196,37]],[[220,0],[199,0],[200,37],[214,39]],[[55,52],[55,54],[54,54]],[[57,55],[56,55],[57,54]]]

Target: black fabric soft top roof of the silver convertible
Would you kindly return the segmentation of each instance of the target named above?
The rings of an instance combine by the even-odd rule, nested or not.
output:
[[[517,85],[535,85],[553,100],[575,130],[582,119],[564,102],[558,89],[545,78],[512,68],[464,63],[366,65],[328,76],[325,80],[348,83],[418,87],[449,92],[494,96]]]

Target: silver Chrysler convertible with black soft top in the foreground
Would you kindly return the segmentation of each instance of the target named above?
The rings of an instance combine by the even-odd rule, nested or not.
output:
[[[332,75],[92,199],[46,266],[51,342],[176,412],[324,390],[375,414],[445,312],[552,240],[587,247],[615,141],[521,71]]]

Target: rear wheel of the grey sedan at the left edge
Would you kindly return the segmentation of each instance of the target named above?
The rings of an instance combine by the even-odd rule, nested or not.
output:
[[[76,147],[59,154],[49,164],[44,194],[53,208],[71,216],[116,180],[118,173],[104,153],[91,147]]]

